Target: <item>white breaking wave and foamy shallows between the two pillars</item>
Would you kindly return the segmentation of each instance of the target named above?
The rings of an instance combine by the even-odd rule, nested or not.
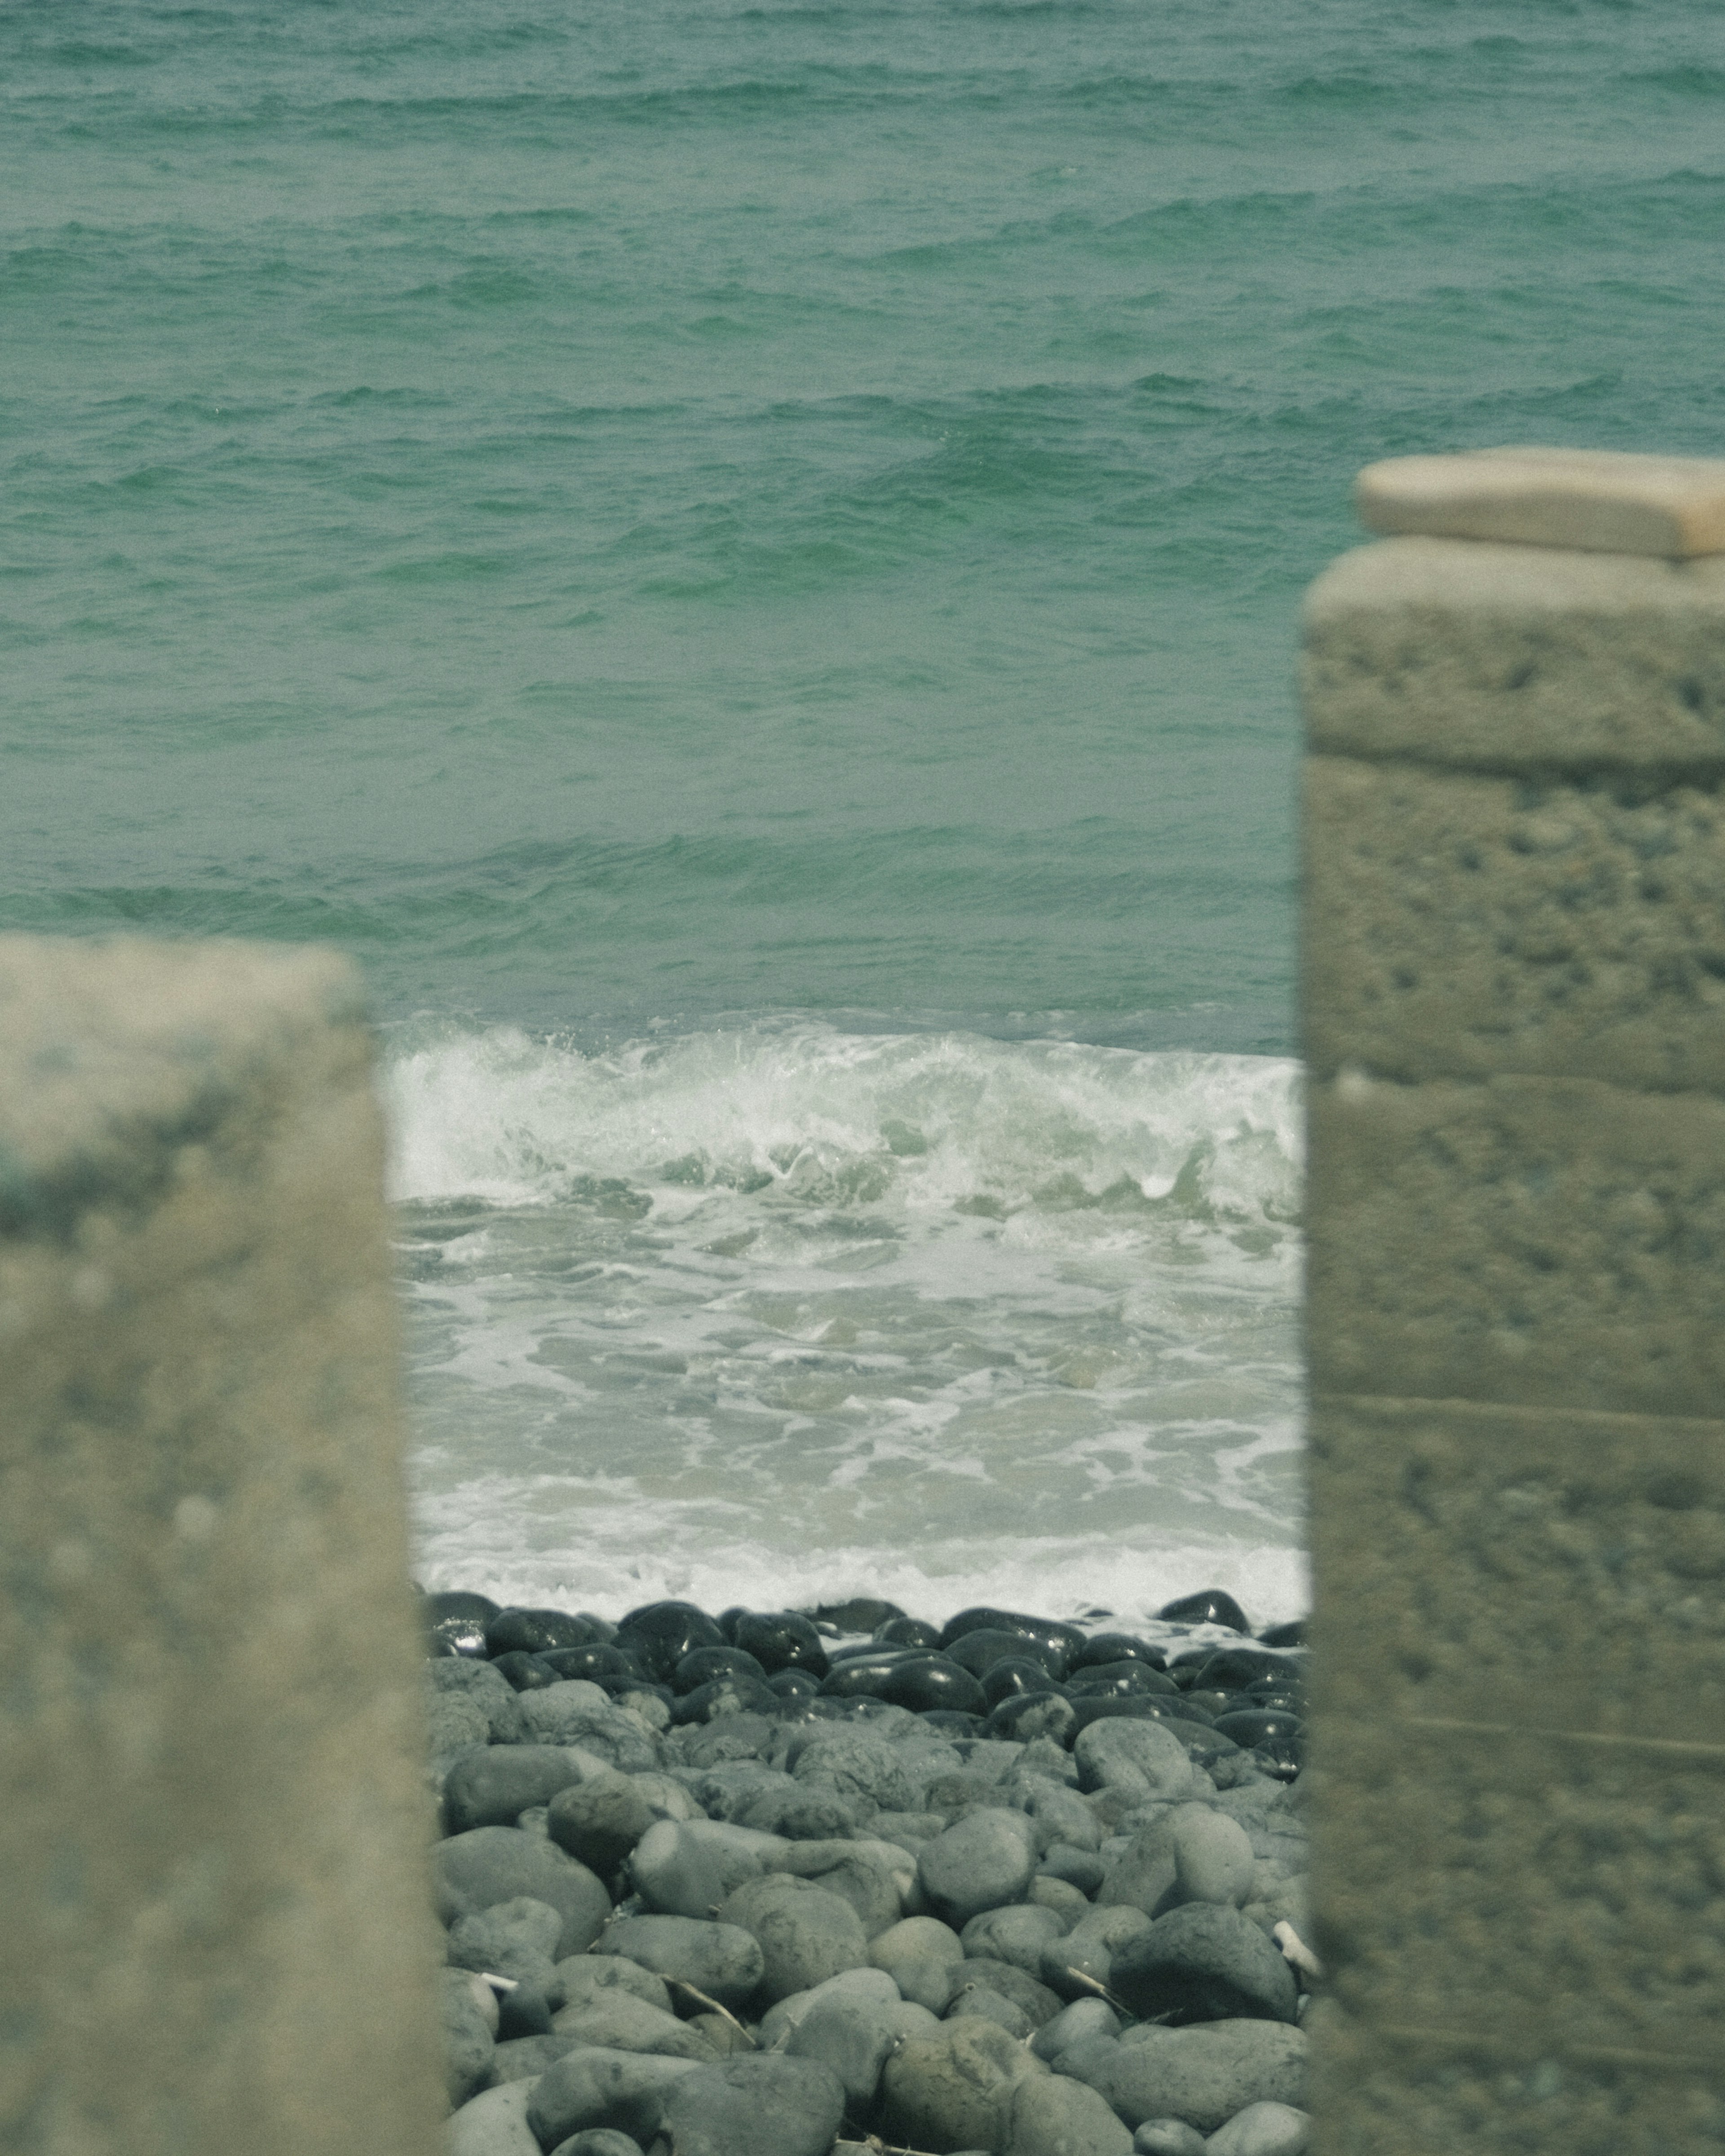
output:
[[[1292,1063],[440,1031],[388,1100],[429,1583],[1302,1606]]]

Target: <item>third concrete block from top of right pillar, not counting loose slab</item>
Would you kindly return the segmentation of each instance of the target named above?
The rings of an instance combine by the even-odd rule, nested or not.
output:
[[[1341,1072],[1307,1117],[1313,1391],[1716,1414],[1725,1102]]]

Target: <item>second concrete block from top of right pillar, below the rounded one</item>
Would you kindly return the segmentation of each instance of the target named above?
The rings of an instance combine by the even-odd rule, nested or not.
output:
[[[1725,1093],[1725,791],[1309,757],[1305,1048],[1333,1078]]]

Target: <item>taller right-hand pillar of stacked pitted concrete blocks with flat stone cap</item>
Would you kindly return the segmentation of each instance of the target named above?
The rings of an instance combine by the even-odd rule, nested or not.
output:
[[[1307,610],[1322,2156],[1725,2139],[1725,464]]]

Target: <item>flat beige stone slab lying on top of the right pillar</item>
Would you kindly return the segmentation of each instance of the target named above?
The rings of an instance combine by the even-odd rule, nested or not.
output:
[[[1473,448],[1391,457],[1354,481],[1374,533],[1507,539],[1587,554],[1725,554],[1725,457]]]

